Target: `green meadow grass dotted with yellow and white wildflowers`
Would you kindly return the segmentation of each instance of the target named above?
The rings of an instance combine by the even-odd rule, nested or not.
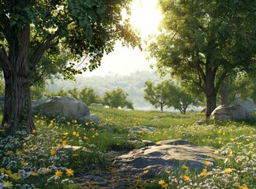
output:
[[[0,188],[77,188],[84,170],[98,174],[111,162],[111,150],[139,148],[128,138],[154,142],[187,139],[199,146],[213,146],[224,156],[217,167],[206,164],[204,172],[189,169],[169,172],[169,177],[152,178],[145,188],[254,188],[255,116],[245,122],[194,124],[202,113],[181,115],[156,111],[126,111],[91,107],[102,120],[97,124],[35,116],[37,131],[32,135],[0,135]],[[2,119],[0,117],[0,119]],[[129,128],[154,127],[155,132],[129,132]],[[81,146],[79,150],[65,145]],[[94,165],[94,166],[91,166]]]

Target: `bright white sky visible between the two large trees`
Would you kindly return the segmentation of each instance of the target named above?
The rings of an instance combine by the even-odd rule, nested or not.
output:
[[[148,35],[158,33],[158,23],[161,19],[160,10],[157,9],[158,0],[133,0],[131,24],[140,30],[142,43]],[[83,76],[106,76],[129,75],[136,71],[150,71],[150,64],[154,61],[146,60],[147,54],[138,47],[122,46],[117,42],[112,53],[105,55],[102,59],[102,65],[92,72],[85,72]]]

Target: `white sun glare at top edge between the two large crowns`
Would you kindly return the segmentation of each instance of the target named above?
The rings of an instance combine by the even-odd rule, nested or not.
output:
[[[133,0],[132,2],[131,24],[139,29],[142,39],[158,33],[161,12],[157,9],[157,5],[158,0]]]

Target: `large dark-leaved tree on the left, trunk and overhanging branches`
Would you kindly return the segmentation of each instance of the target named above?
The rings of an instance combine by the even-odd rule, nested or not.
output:
[[[35,129],[30,87],[43,55],[69,56],[65,76],[96,69],[116,40],[132,47],[139,38],[122,11],[130,14],[132,0],[0,0],[0,65],[5,79],[2,125],[7,131]],[[76,69],[76,61],[83,65]]]

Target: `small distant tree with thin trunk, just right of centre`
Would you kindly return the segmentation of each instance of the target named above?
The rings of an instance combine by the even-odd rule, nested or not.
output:
[[[144,99],[150,102],[155,108],[160,107],[161,112],[164,112],[164,107],[171,103],[169,97],[172,94],[172,91],[170,90],[169,85],[169,80],[158,83],[157,86],[154,86],[152,81],[147,80],[145,82]]]

